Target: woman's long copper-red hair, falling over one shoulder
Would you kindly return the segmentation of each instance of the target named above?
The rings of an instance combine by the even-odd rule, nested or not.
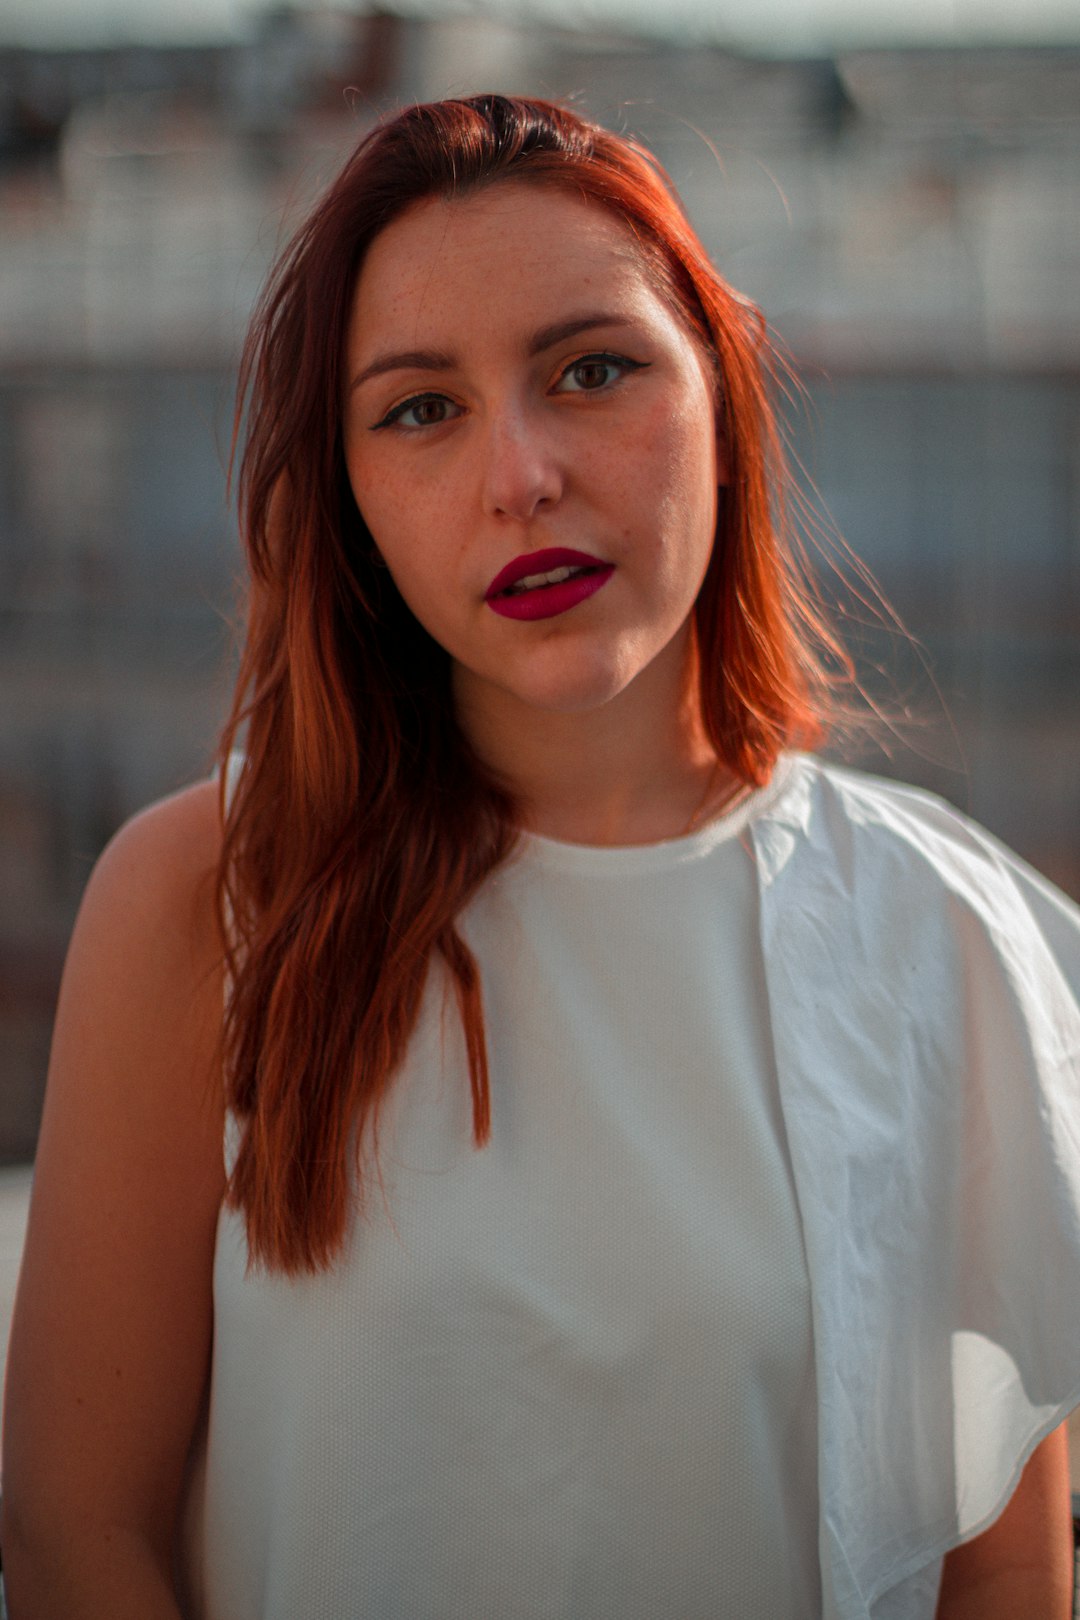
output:
[[[342,455],[343,343],[371,241],[411,204],[500,180],[559,185],[633,232],[716,374],[730,484],[695,609],[717,757],[769,779],[821,742],[848,671],[787,535],[769,403],[774,356],[716,272],[670,181],[633,141],[551,102],[411,107],[368,134],[282,256],[240,371],[249,627],[222,760],[246,726],[225,810],[228,1184],[253,1264],[332,1264],[359,1144],[416,1025],[432,954],[465,1027],[474,1140],[489,1134],[476,962],[455,920],[517,838],[517,807],[457,727],[447,654],[413,619],[353,501]]]

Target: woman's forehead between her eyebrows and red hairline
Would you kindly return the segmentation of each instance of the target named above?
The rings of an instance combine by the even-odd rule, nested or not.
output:
[[[353,340],[470,318],[542,322],[568,305],[665,311],[623,220],[555,185],[497,181],[415,204],[372,241],[353,303]]]

